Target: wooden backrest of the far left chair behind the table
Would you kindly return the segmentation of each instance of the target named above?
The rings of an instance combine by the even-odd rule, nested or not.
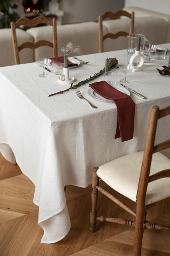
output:
[[[16,37],[16,28],[18,28],[20,25],[27,25],[28,27],[36,27],[39,24],[47,24],[53,26],[53,39],[52,43],[47,40],[40,40],[35,43],[32,42],[25,42],[22,43],[20,46],[18,46],[18,41]],[[12,41],[13,41],[13,51],[14,51],[14,57],[15,57],[15,64],[20,64],[20,56],[19,52],[20,50],[24,48],[31,48],[36,49],[40,46],[50,46],[53,48],[53,57],[57,56],[57,26],[56,26],[56,18],[48,18],[39,16],[34,19],[29,18],[20,18],[16,23],[11,21],[11,31],[12,31]]]

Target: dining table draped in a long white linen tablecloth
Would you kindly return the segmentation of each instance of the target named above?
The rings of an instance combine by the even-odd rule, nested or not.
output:
[[[170,49],[170,43],[163,44]],[[88,62],[69,69],[73,85],[86,80],[105,67],[106,58],[126,63],[127,49],[76,56]],[[68,56],[68,59],[74,60]],[[123,155],[142,151],[152,106],[170,105],[170,77],[157,71],[167,65],[169,52],[163,60],[144,62],[141,71],[128,74],[128,87],[146,99],[130,92],[135,103],[133,138],[115,139],[117,108],[114,101],[98,98],[89,82],[78,89],[97,108],[78,98],[75,89],[54,94],[70,87],[58,81],[59,75],[46,71],[34,62],[0,68],[0,152],[10,162],[16,159],[23,174],[35,185],[33,202],[39,206],[38,224],[44,230],[42,243],[63,239],[70,230],[64,187],[87,187],[92,183],[92,168]],[[123,73],[117,74],[116,87]],[[104,80],[98,76],[90,83]],[[168,139],[170,119],[158,123],[157,142]],[[170,157],[170,151],[163,151]]]

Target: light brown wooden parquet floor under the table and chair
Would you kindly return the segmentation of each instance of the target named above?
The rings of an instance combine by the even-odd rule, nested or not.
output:
[[[14,166],[0,155],[0,256],[133,255],[133,228],[98,222],[96,232],[90,233],[91,186],[85,189],[67,186],[71,230],[57,243],[40,243],[43,230],[37,224],[38,206],[33,203],[34,189],[34,184],[22,174],[18,165]],[[130,203],[134,208],[134,203]],[[131,219],[124,210],[109,200],[104,201],[103,195],[99,194],[100,214],[102,208],[106,209],[107,216],[119,210],[121,217]],[[170,199],[153,204],[148,209],[148,219],[170,223]],[[170,256],[170,232],[145,231],[142,252],[145,256]]]

